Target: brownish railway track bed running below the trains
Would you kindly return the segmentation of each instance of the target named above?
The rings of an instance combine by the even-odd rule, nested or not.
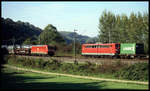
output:
[[[24,55],[17,55],[18,57],[26,57],[26,58],[42,58],[44,60],[48,59],[55,59],[61,62],[67,62],[67,63],[74,63],[75,59],[74,57],[71,56],[24,56]],[[78,63],[85,63],[85,62],[91,62],[91,63],[96,63],[96,64],[113,64],[115,62],[121,62],[124,64],[134,64],[134,63],[139,63],[139,62],[149,62],[148,59],[111,59],[111,58],[76,58],[76,61]]]

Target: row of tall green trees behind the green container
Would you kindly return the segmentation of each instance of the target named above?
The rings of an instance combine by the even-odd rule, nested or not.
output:
[[[149,14],[115,15],[104,11],[99,18],[99,41],[102,43],[144,43],[149,51]]]

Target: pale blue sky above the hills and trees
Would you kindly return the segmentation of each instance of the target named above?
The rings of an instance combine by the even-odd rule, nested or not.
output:
[[[76,32],[90,37],[98,35],[99,18],[104,10],[115,15],[134,13],[149,13],[148,1],[134,2],[52,2],[52,1],[2,1],[1,17],[13,21],[29,22],[44,29],[52,24],[58,31]]]

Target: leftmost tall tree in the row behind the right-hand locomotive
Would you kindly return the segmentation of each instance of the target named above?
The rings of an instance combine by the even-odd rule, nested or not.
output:
[[[100,42],[110,43],[113,42],[112,36],[114,36],[115,29],[115,15],[111,12],[103,12],[99,19],[99,39]]]

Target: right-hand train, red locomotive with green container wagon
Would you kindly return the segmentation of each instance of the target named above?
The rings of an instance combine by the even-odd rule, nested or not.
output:
[[[82,44],[82,55],[117,58],[145,56],[144,44],[139,43]]]

